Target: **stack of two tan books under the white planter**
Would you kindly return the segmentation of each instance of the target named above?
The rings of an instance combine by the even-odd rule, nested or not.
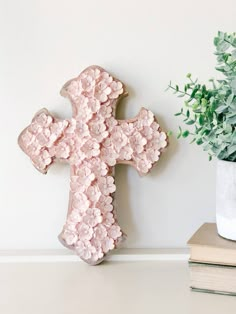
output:
[[[236,242],[220,237],[216,224],[205,223],[188,245],[192,290],[236,296]]]

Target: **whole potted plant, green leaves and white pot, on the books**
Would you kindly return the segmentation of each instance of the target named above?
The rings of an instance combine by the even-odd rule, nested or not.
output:
[[[171,82],[168,89],[185,99],[176,116],[183,116],[190,129],[179,127],[178,138],[192,137],[209,160],[217,158],[217,229],[221,236],[236,240],[236,34],[218,32],[214,45],[222,79],[205,85],[188,74],[182,90]]]

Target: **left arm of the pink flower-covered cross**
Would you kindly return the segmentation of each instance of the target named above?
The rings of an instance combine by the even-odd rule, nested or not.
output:
[[[47,109],[42,109],[20,134],[18,142],[36,169],[47,173],[56,159],[67,160],[71,156],[72,133],[73,121],[56,119]]]

